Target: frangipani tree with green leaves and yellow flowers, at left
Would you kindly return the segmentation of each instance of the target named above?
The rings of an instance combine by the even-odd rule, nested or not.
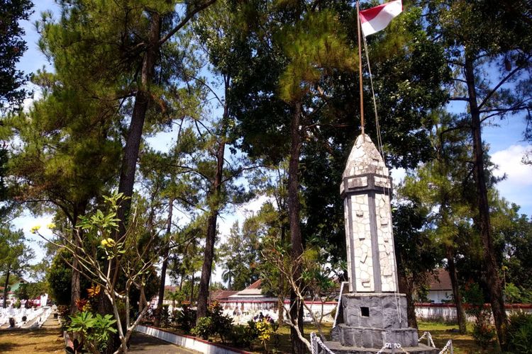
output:
[[[92,279],[95,285],[99,285],[101,291],[109,299],[116,319],[118,338],[121,345],[115,353],[127,353],[127,343],[143,316],[148,312],[148,300],[145,296],[145,285],[155,271],[154,265],[159,261],[160,254],[154,247],[158,238],[153,234],[149,239],[139,242],[143,234],[138,227],[136,212],[131,214],[126,232],[118,239],[113,239],[113,234],[118,230],[119,219],[117,218],[119,201],[123,198],[121,193],[113,193],[110,197],[104,197],[107,210],[96,212],[91,215],[80,217],[76,226],[77,232],[74,239],[61,236],[56,233],[57,239],[48,239],[39,233],[38,227],[32,232],[41,236],[60,249],[65,249],[77,260],[80,273]],[[83,239],[80,236],[83,234]],[[81,246],[78,246],[81,245]],[[119,277],[126,279],[123,287],[118,285]],[[136,287],[140,292],[142,311],[135,318],[131,318],[131,290]],[[121,318],[119,308],[126,307],[125,318]]]

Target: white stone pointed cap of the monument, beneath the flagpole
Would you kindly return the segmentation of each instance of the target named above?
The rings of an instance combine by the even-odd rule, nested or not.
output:
[[[353,149],[351,149],[342,178],[364,173],[375,173],[382,176],[388,176],[389,174],[384,160],[375,144],[371,141],[370,136],[361,134],[356,139]]]

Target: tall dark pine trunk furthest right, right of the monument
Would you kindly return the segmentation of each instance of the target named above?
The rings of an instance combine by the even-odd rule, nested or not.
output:
[[[482,239],[484,251],[484,269],[489,289],[489,300],[492,305],[493,318],[497,329],[497,337],[501,348],[506,346],[505,328],[507,324],[504,298],[502,296],[501,280],[499,278],[497,261],[492,239],[492,227],[489,220],[489,202],[487,198],[486,176],[484,174],[484,152],[482,150],[482,136],[480,124],[480,110],[477,105],[477,92],[475,89],[475,72],[471,53],[465,54],[465,79],[469,93],[469,105],[471,113],[471,133],[473,139],[473,177],[477,185],[477,203],[479,211],[478,229]]]

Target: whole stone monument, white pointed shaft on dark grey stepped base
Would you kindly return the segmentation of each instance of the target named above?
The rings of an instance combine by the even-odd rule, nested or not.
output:
[[[345,215],[349,292],[340,301],[333,341],[335,353],[377,353],[398,343],[409,353],[438,353],[418,344],[399,294],[390,195],[392,178],[370,137],[360,135],[340,184]],[[394,351],[400,351],[396,349]],[[391,353],[384,351],[384,353]]]

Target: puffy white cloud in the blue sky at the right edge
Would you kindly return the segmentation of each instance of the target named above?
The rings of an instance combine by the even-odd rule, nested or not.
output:
[[[506,183],[517,185],[532,185],[532,166],[523,164],[522,159],[531,146],[511,145],[510,147],[494,152],[492,161],[499,166],[494,171],[495,176],[501,177],[506,173]]]

